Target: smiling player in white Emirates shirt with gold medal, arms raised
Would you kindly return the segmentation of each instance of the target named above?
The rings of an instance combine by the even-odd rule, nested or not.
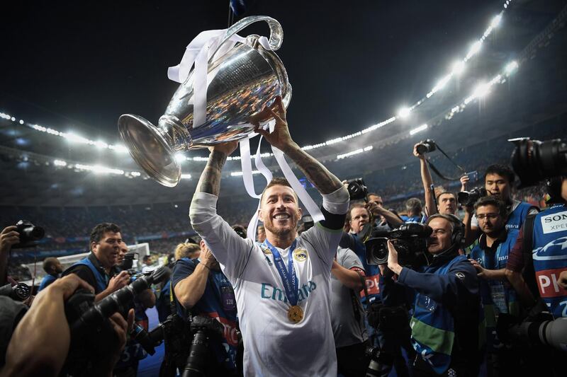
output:
[[[264,115],[273,132],[258,132],[286,153],[323,197],[324,220],[297,236],[296,192],[275,178],[263,192],[259,218],[266,240],[242,239],[216,213],[220,173],[236,142],[210,148],[191,202],[191,225],[234,286],[244,340],[246,376],[336,376],[330,320],[330,269],[341,238],[349,194],[340,180],[291,139],[281,98]]]

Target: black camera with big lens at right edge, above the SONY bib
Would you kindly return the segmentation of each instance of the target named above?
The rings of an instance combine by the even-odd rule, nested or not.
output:
[[[567,144],[561,139],[539,141],[520,137],[508,141],[516,145],[512,151],[512,168],[520,178],[520,188],[567,175]]]

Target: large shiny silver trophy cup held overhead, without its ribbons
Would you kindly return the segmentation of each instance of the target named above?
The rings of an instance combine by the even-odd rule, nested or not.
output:
[[[249,35],[217,56],[232,35],[258,21],[269,25],[271,50],[262,47],[258,35]],[[281,95],[287,108],[291,85],[283,63],[273,52],[279,49],[282,39],[279,22],[266,16],[243,18],[226,30],[217,50],[209,55],[206,120],[202,124],[193,127],[195,67],[177,88],[157,127],[139,115],[120,116],[120,137],[136,163],[157,182],[174,187],[181,178],[176,152],[249,137],[254,132],[252,117],[265,105],[271,105],[276,95]]]

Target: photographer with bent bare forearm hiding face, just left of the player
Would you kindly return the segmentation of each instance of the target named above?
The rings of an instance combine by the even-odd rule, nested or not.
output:
[[[235,293],[205,242],[199,245],[201,255],[181,258],[172,274],[177,313],[195,332],[185,345],[189,359],[183,376],[237,376]]]

